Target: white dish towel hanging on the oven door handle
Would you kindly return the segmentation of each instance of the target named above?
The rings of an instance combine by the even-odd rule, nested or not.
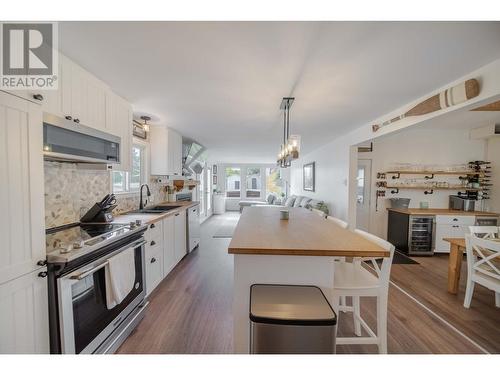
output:
[[[130,248],[108,259],[105,269],[106,307],[108,310],[119,305],[134,287],[134,251],[134,248]]]

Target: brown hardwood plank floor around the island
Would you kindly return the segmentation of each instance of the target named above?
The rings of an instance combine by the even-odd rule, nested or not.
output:
[[[212,238],[228,213],[202,225],[200,248],[187,255],[150,297],[144,320],[118,353],[232,353],[233,256],[229,238]],[[500,352],[500,310],[493,293],[477,287],[470,311],[460,293],[446,292],[447,258],[415,258],[419,265],[394,265],[393,282],[445,318],[489,352]],[[375,327],[375,300],[364,298],[362,315]],[[389,353],[481,353],[481,349],[391,285],[388,311]],[[341,313],[338,335],[351,335],[352,315]],[[377,353],[375,345],[339,346],[338,353]]]

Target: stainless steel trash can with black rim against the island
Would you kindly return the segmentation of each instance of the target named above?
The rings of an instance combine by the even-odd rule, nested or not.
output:
[[[250,353],[335,353],[337,315],[316,286],[250,288]]]

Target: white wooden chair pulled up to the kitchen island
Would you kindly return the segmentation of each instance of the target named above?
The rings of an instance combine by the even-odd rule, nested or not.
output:
[[[342,311],[352,311],[355,333],[353,337],[337,337],[337,345],[376,344],[379,353],[386,354],[387,299],[394,245],[359,229],[354,232],[387,250],[390,256],[355,258],[352,263],[334,262],[334,285],[332,288],[334,308]],[[377,260],[382,260],[381,265]],[[366,268],[368,265],[365,262],[371,262],[371,271]],[[342,306],[341,297],[351,297],[352,306]],[[360,297],[377,298],[376,334],[361,317]],[[361,327],[368,332],[368,336],[361,337]]]

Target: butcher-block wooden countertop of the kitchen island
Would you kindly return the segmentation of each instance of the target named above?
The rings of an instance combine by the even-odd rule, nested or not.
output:
[[[327,257],[389,256],[389,252],[304,208],[290,208],[280,220],[280,207],[245,207],[230,254]]]

